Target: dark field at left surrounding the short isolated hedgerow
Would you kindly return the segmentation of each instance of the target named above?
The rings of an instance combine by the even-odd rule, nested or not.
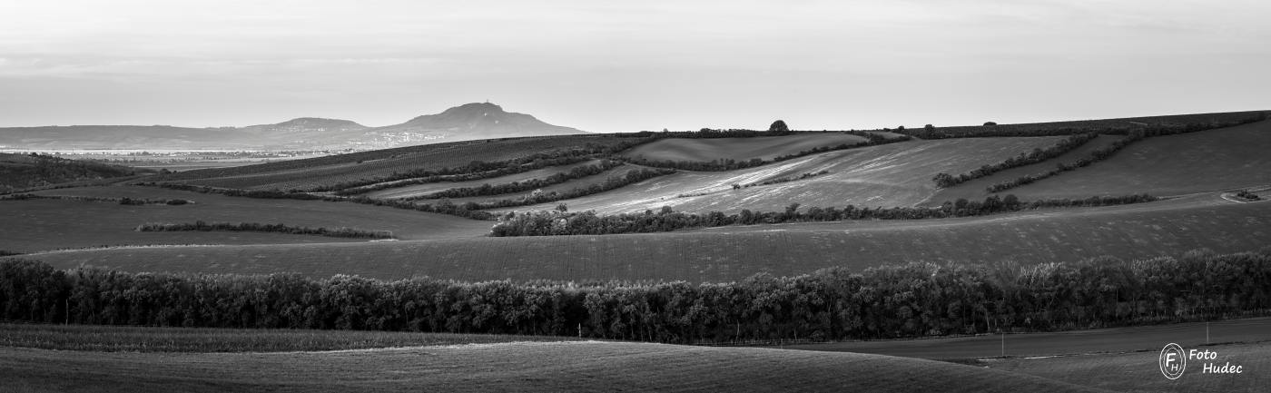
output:
[[[489,223],[449,215],[399,210],[351,202],[261,200],[228,197],[156,187],[108,186],[39,191],[38,195],[131,198],[182,198],[180,206],[128,206],[65,200],[0,201],[0,249],[46,251],[123,244],[269,244],[358,242],[272,233],[139,233],[145,223],[287,224],[294,226],[350,226],[390,230],[399,239],[479,237]],[[360,240],[365,242],[365,240]]]

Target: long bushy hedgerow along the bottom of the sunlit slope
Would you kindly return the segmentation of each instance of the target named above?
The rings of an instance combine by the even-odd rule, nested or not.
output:
[[[1035,210],[1043,207],[1091,207],[1115,206],[1129,203],[1143,203],[1157,201],[1149,195],[1130,195],[1120,197],[1089,197],[1084,200],[1042,200],[1024,202],[1013,195],[1007,197],[990,196],[984,202],[971,202],[957,200],[944,202],[941,207],[891,207],[868,209],[848,205],[843,209],[834,206],[808,207],[799,212],[799,203],[792,203],[785,211],[760,211],[752,212],[742,210],[740,214],[723,214],[710,211],[707,214],[685,214],[662,207],[658,212],[652,210],[644,214],[619,214],[596,215],[595,211],[563,212],[563,211],[529,211],[508,214],[502,216],[498,224],[491,228],[491,237],[549,237],[549,235],[602,235],[622,233],[656,233],[674,231],[689,228],[712,228],[727,225],[754,225],[754,224],[783,224],[783,223],[808,223],[808,221],[845,221],[845,220],[920,220],[920,219],[946,219],[981,216],[989,214]]]

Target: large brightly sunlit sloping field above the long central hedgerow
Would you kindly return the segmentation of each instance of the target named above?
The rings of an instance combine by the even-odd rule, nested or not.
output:
[[[937,191],[932,177],[962,173],[1002,162],[1061,137],[1002,137],[907,141],[808,155],[756,168],[727,172],[689,172],[665,176],[619,190],[564,201],[569,210],[602,214],[634,212],[671,206],[676,211],[779,211],[792,202],[803,206],[909,206]],[[732,190],[766,179],[829,170],[812,181]],[[568,183],[566,183],[568,184]],[[688,197],[679,197],[688,196]],[[555,203],[515,210],[550,210]]]

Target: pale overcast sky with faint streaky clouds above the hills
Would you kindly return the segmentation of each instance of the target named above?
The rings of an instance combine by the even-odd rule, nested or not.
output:
[[[592,132],[1271,109],[1271,1],[0,0],[0,126]]]

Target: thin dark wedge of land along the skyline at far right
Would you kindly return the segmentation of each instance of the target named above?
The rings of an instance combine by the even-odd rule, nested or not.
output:
[[[1178,130],[1209,130],[1251,123],[1268,118],[1266,111],[1252,112],[1225,112],[1225,113],[1197,113],[1177,116],[1153,116],[1131,118],[1108,118],[1087,121],[1065,121],[1049,123],[1019,123],[984,126],[957,126],[957,127],[923,127],[923,128],[897,128],[895,132],[910,135],[919,139],[949,139],[949,137],[998,137],[998,136],[1057,136],[1077,135],[1087,132],[1129,135],[1131,131],[1141,130],[1153,132],[1178,132]],[[1188,132],[1188,131],[1183,131]]]

